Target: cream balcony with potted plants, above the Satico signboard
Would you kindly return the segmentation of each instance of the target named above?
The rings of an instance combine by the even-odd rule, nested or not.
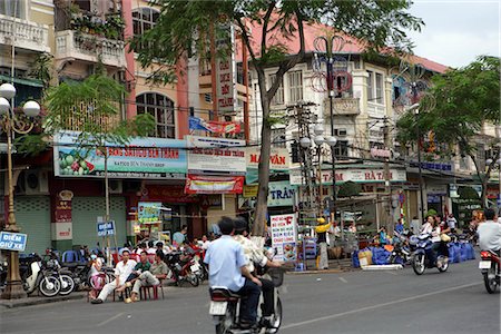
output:
[[[56,60],[81,60],[126,67],[125,43],[73,30],[56,32]]]

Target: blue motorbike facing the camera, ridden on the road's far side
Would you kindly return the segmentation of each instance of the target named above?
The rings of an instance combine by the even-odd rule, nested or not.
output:
[[[423,275],[426,268],[436,267],[439,272],[444,273],[449,268],[449,257],[438,250],[436,256],[433,254],[431,235],[424,234],[418,236],[416,249],[412,257],[412,268],[416,275]],[[443,252],[445,253],[445,252]],[[448,252],[449,253],[449,252]],[[433,261],[434,258],[434,261]]]

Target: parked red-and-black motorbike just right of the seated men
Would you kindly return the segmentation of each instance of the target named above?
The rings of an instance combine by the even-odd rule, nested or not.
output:
[[[165,262],[178,286],[181,286],[184,282],[188,282],[193,286],[200,284],[198,278],[200,265],[194,259],[193,253],[193,249],[191,252],[171,252],[165,257]]]

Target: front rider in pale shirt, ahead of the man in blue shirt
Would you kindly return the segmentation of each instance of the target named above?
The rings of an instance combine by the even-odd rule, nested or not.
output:
[[[247,257],[247,269],[250,273],[255,273],[254,264],[257,264],[262,267],[275,267],[278,268],[282,266],[281,263],[269,261],[266,255],[263,253],[256,244],[254,244],[247,236],[247,222],[244,218],[239,217],[235,219],[235,240],[244,247],[244,254]],[[272,281],[259,277],[262,283],[263,298],[264,298],[264,310],[263,310],[263,321],[266,322],[265,325],[271,324],[271,316],[273,314],[274,299],[275,299],[275,286]]]

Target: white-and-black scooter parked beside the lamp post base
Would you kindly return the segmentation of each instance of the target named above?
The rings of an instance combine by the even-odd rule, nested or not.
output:
[[[32,294],[37,288],[46,297],[53,297],[59,293],[60,281],[52,275],[51,271],[47,271],[46,264],[38,254],[32,253],[19,262],[23,287],[28,294]]]

